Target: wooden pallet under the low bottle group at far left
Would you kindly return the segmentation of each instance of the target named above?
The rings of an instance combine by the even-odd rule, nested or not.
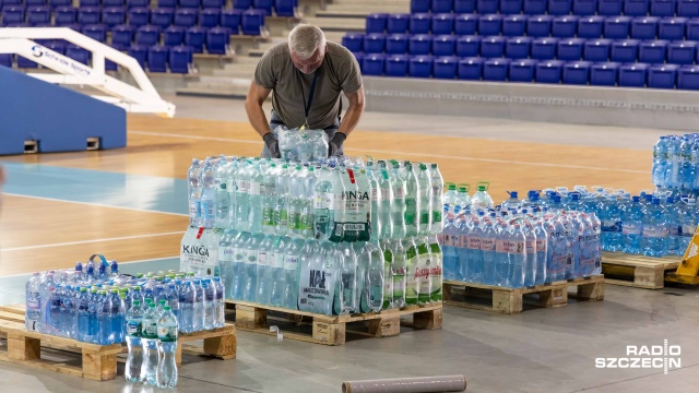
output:
[[[0,307],[0,336],[8,341],[8,352],[0,353],[0,360],[43,370],[82,377],[95,381],[107,381],[117,376],[117,361],[125,361],[128,347],[122,344],[98,345],[82,343],[71,338],[57,337],[38,332],[27,332],[24,326],[24,307]],[[200,346],[185,343],[203,341]],[[227,323],[224,327],[196,333],[180,333],[175,358],[181,365],[182,353],[210,355],[224,360],[236,357],[236,327]],[[42,358],[42,348],[82,354],[82,366],[68,365]]]

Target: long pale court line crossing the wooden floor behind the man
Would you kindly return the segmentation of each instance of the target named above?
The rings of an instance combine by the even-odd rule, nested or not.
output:
[[[237,139],[214,138],[214,136],[209,138],[209,136],[190,135],[190,134],[158,133],[158,132],[147,132],[147,131],[129,131],[129,133],[134,133],[139,135],[161,135],[161,136],[169,136],[169,138],[196,139],[196,140],[205,140],[205,141],[216,141],[216,142],[262,144],[262,142],[249,141],[249,140],[237,140]],[[453,138],[458,138],[458,136],[453,136]],[[613,169],[613,168],[593,167],[593,166],[584,166],[584,165],[532,163],[532,162],[520,162],[520,160],[510,160],[510,159],[475,158],[475,157],[463,157],[463,156],[449,156],[449,155],[442,155],[442,154],[382,151],[382,150],[371,150],[371,148],[347,148],[347,150],[362,151],[362,152],[368,152],[368,153],[410,155],[410,156],[419,156],[419,157],[458,159],[458,160],[470,160],[470,162],[482,162],[482,163],[494,163],[494,164],[530,165],[530,166],[556,167],[556,168],[569,168],[569,169],[588,169],[588,170],[600,170],[600,171],[616,171],[616,172],[624,172],[624,174],[643,174],[643,175],[650,174],[650,171],[648,170]]]

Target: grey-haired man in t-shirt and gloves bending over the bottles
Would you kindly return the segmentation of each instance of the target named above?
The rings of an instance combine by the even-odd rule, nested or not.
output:
[[[268,122],[262,104],[272,96]],[[340,121],[343,92],[350,102]],[[250,124],[264,141],[261,157],[280,157],[280,126],[324,130],[330,139],[329,156],[341,155],[342,145],[364,111],[362,73],[354,55],[342,45],[328,43],[323,32],[307,24],[294,27],[288,41],[270,48],[254,71],[245,102]]]

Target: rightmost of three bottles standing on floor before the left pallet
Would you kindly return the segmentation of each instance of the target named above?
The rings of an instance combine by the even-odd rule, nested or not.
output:
[[[159,341],[156,381],[158,388],[175,388],[177,385],[177,318],[169,306],[157,319],[157,340]]]

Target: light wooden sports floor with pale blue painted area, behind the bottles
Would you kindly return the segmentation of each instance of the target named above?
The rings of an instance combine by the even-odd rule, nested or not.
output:
[[[122,263],[178,257],[191,158],[257,156],[262,147],[246,122],[129,116],[128,129],[122,150],[0,157],[9,172],[0,207],[0,276],[71,267],[93,253]],[[345,152],[438,163],[446,181],[489,181],[496,203],[506,190],[525,195],[554,186],[630,192],[651,187],[650,145],[640,151],[494,142],[360,128]],[[47,175],[23,179],[37,172]],[[91,180],[81,181],[86,174]],[[117,175],[117,183],[109,180]]]

